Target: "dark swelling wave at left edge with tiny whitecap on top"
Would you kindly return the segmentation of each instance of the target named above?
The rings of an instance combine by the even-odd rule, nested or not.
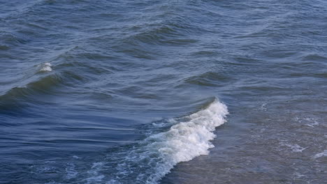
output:
[[[51,72],[51,64],[43,63],[27,84],[17,84],[0,95],[0,110],[10,111],[20,109],[24,105],[44,104],[48,102],[45,96],[61,93],[61,87],[69,87],[83,80],[75,72]],[[43,75],[40,75],[43,73]],[[45,74],[44,74],[45,73]],[[49,96],[48,96],[49,97]]]

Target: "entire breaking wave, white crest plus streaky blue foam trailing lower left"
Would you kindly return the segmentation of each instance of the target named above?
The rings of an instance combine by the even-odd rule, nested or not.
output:
[[[199,112],[182,118],[169,119],[167,122],[154,123],[163,128],[171,125],[166,131],[159,132],[143,139],[128,150],[116,151],[108,155],[106,162],[97,162],[96,173],[87,179],[88,183],[103,181],[108,176],[99,175],[115,165],[115,170],[109,176],[109,183],[157,183],[170,172],[175,164],[187,162],[199,155],[207,155],[213,148],[210,140],[214,139],[215,128],[226,122],[228,110],[226,105],[215,100]],[[172,125],[173,124],[173,125]],[[108,166],[106,166],[108,164]],[[99,168],[99,166],[101,166]]]

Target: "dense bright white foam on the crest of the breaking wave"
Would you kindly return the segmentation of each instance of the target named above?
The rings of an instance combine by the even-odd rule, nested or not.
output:
[[[214,102],[207,109],[191,114],[189,121],[173,125],[167,132],[152,135],[145,141],[154,139],[159,153],[171,164],[186,162],[198,155],[209,153],[208,149],[214,147],[210,143],[210,140],[215,138],[212,131],[225,123],[226,114],[226,106]]]

